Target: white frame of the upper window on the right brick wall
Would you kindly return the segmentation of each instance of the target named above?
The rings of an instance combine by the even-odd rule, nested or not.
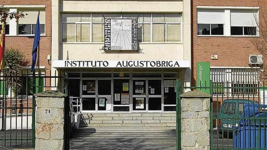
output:
[[[197,6],[197,9],[225,9],[225,24],[224,24],[224,35],[198,35],[198,29],[196,32],[196,36],[201,37],[201,36],[210,36],[210,37],[218,37],[218,36],[222,36],[222,37],[260,37],[259,36],[259,28],[257,27],[257,35],[244,35],[244,31],[243,31],[243,35],[231,35],[231,9],[254,9],[254,10],[258,10],[258,14],[259,14],[259,7],[224,7],[224,6]],[[259,15],[258,15],[259,16]],[[197,23],[198,25],[198,23]],[[211,28],[210,28],[211,30]],[[210,31],[211,32],[211,31]]]

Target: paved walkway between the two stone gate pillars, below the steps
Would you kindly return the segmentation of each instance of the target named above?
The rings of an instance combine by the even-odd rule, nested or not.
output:
[[[176,149],[175,128],[80,128],[70,149]]]

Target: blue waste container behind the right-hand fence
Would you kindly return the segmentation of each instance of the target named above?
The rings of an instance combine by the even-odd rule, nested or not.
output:
[[[245,104],[240,123],[235,128],[234,148],[267,148],[267,105]],[[266,117],[266,118],[264,118]]]

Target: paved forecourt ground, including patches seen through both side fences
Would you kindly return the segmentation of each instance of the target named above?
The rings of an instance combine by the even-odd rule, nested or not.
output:
[[[21,132],[22,131],[22,132]],[[0,131],[0,150],[4,146],[5,137],[6,146],[11,149],[31,147],[31,141],[27,141],[32,136],[31,130],[8,130]],[[6,136],[4,136],[6,133]],[[12,139],[22,139],[12,141],[10,146],[10,135]],[[176,148],[175,128],[81,128],[76,130],[72,139],[70,139],[70,149],[175,149]],[[24,141],[25,140],[25,141]],[[22,143],[21,143],[22,142]],[[214,149],[232,149],[233,139],[220,139],[217,130],[213,130],[213,148]]]

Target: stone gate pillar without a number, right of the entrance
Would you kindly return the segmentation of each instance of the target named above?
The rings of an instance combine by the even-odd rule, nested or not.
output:
[[[189,91],[181,96],[181,149],[210,149],[210,94]]]

